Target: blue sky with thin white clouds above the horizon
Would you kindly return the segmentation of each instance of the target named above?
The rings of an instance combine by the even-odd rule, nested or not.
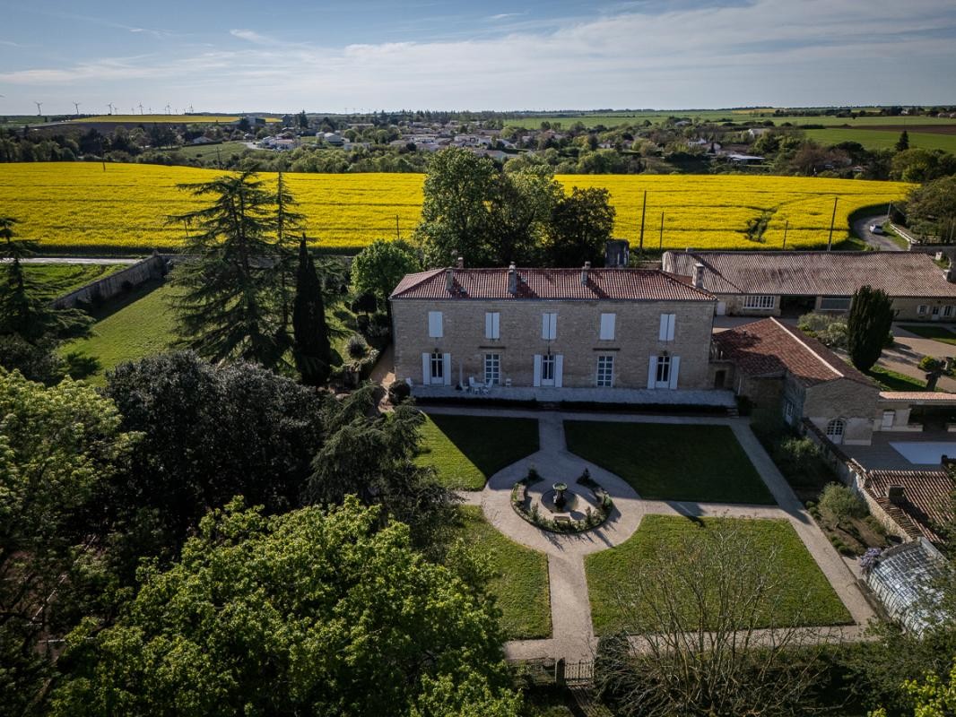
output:
[[[0,0],[0,114],[956,103],[952,0]]]

